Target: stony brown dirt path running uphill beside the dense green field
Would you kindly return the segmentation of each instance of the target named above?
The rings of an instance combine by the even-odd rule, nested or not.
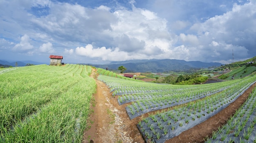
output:
[[[137,123],[132,124],[125,106],[119,106],[106,84],[97,80],[96,71],[91,77],[96,80],[97,93],[91,106],[90,129],[85,131],[83,143],[136,143],[136,136],[141,139],[137,143],[143,143]]]

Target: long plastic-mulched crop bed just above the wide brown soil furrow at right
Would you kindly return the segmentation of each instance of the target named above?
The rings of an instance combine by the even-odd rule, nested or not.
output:
[[[146,142],[164,143],[216,115],[242,95],[255,80],[256,76],[250,77],[215,95],[189,102],[185,106],[164,113],[150,115],[137,124],[139,131]]]

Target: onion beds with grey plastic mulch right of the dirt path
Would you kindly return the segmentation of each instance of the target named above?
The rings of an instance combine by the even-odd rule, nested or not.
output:
[[[137,124],[138,130],[147,143],[164,143],[181,132],[206,121],[234,102],[256,82],[255,75],[205,85],[155,84],[104,75],[98,76],[98,79],[108,85],[113,96],[118,96],[119,105],[129,104],[126,106],[126,112],[130,119],[150,111],[165,109],[144,117]],[[247,112],[245,114],[247,115]],[[246,138],[247,141],[251,139],[255,142],[255,138],[252,138],[256,130],[254,120],[255,117],[251,117],[248,126],[251,127],[252,132],[250,132],[250,137]],[[244,128],[245,126],[241,126],[239,130],[245,130]],[[239,134],[249,133],[244,131]],[[218,136],[215,139],[219,138]],[[217,143],[218,141],[209,139],[209,142]]]

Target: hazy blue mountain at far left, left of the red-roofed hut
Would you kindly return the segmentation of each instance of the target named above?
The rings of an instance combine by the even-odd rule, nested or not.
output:
[[[17,62],[18,67],[24,67],[28,63],[33,64],[33,65],[46,64],[46,63],[40,63],[40,62],[35,62],[35,61],[16,61],[16,62]],[[5,61],[5,60],[0,60],[0,66],[4,65],[4,67],[10,67],[10,66],[16,67],[16,62],[9,62],[9,61]]]

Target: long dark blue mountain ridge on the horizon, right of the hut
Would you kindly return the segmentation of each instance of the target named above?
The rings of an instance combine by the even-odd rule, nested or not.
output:
[[[109,70],[117,70],[119,66],[123,65],[126,67],[128,72],[152,72],[152,73],[163,73],[163,72],[185,72],[191,69],[200,69],[207,67],[219,67],[222,63],[204,63],[201,61],[184,61],[175,59],[152,59],[152,60],[130,60],[122,62],[111,62],[104,65],[90,64],[94,67],[99,67]]]

